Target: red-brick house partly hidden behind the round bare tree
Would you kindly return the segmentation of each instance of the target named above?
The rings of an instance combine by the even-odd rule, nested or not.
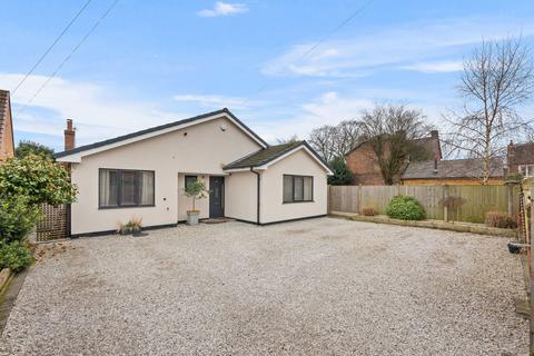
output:
[[[442,145],[437,130],[431,131],[431,136],[417,139],[415,142],[427,152],[426,158],[442,159]],[[345,155],[345,160],[353,174],[354,185],[383,186],[385,184],[377,157],[367,141],[353,148]],[[416,160],[416,158],[412,158],[412,160]]]

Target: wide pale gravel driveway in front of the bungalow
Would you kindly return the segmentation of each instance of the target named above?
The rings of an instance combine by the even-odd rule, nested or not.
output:
[[[0,355],[526,355],[505,245],[334,218],[48,245]]]

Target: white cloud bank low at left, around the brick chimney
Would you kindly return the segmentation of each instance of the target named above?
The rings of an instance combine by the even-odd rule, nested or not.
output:
[[[22,76],[0,73],[0,82],[13,88]],[[77,142],[83,145],[187,117],[162,112],[156,103],[113,98],[112,90],[93,83],[61,78],[50,80],[31,105],[20,111],[47,79],[30,76],[12,96],[13,125],[17,131],[58,136],[58,147],[66,118],[73,118]]]

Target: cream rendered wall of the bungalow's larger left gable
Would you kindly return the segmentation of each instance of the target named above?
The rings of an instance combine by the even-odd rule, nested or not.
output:
[[[225,131],[220,129],[222,123],[226,125]],[[179,184],[179,174],[204,174],[206,179],[210,174],[224,175],[225,164],[258,149],[260,146],[256,141],[221,117],[83,157],[81,164],[72,165],[72,182],[78,186],[79,195],[77,202],[72,204],[71,233],[115,230],[119,221],[126,222],[132,217],[141,217],[144,226],[176,224],[182,219],[178,206],[187,210],[190,205],[181,195],[184,182]],[[156,206],[99,209],[99,168],[154,170]],[[202,216],[207,216],[207,199],[204,204]]]

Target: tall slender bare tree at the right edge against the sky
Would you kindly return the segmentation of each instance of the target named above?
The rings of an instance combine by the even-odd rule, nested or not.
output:
[[[483,42],[464,61],[458,89],[463,109],[445,116],[451,132],[444,141],[453,155],[482,159],[479,178],[487,184],[492,161],[504,156],[507,141],[532,135],[532,120],[516,111],[534,89],[528,49],[521,40]]]

